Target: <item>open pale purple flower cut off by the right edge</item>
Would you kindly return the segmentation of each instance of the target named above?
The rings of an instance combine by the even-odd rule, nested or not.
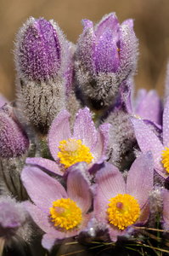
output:
[[[169,177],[169,99],[166,102],[163,113],[163,125],[162,125],[162,142],[161,139],[155,135],[154,131],[151,131],[148,125],[144,124],[142,119],[132,118],[132,124],[135,131],[135,136],[138,141],[138,146],[144,153],[150,150],[154,157],[155,171],[158,172],[161,177]]]

